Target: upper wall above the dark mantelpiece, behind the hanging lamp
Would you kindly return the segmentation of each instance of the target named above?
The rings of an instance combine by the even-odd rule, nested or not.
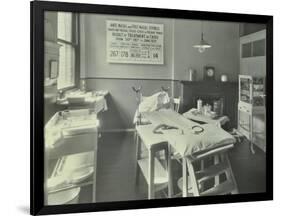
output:
[[[216,79],[227,74],[230,81],[239,73],[239,24],[229,22],[203,22],[204,39],[212,45],[204,53],[192,46],[199,43],[201,21],[175,20],[174,77],[184,80],[187,69],[194,68],[197,79],[203,78],[203,67],[214,66]]]

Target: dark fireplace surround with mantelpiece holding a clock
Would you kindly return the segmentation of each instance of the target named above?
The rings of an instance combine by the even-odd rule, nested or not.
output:
[[[237,126],[238,83],[218,81],[181,81],[181,113],[197,107],[200,98],[204,104],[214,105],[214,101],[222,104],[221,114],[230,118],[230,127]]]

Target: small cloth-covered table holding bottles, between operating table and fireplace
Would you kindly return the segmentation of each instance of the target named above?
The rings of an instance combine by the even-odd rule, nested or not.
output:
[[[219,127],[229,122],[229,118],[227,116],[219,116],[219,117],[211,118],[209,116],[199,113],[195,108],[192,108],[186,113],[183,113],[183,116],[193,121],[215,124]]]

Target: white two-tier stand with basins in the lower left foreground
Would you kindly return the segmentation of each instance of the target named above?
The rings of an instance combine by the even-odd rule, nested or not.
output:
[[[45,203],[70,204],[80,188],[92,185],[96,202],[99,121],[88,109],[55,113],[44,128]],[[48,165],[56,161],[53,169]],[[77,202],[77,201],[76,201]]]

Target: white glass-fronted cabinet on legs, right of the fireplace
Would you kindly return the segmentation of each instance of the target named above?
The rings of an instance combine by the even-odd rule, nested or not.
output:
[[[238,130],[249,139],[253,153],[254,144],[266,148],[265,114],[265,78],[239,75]]]

